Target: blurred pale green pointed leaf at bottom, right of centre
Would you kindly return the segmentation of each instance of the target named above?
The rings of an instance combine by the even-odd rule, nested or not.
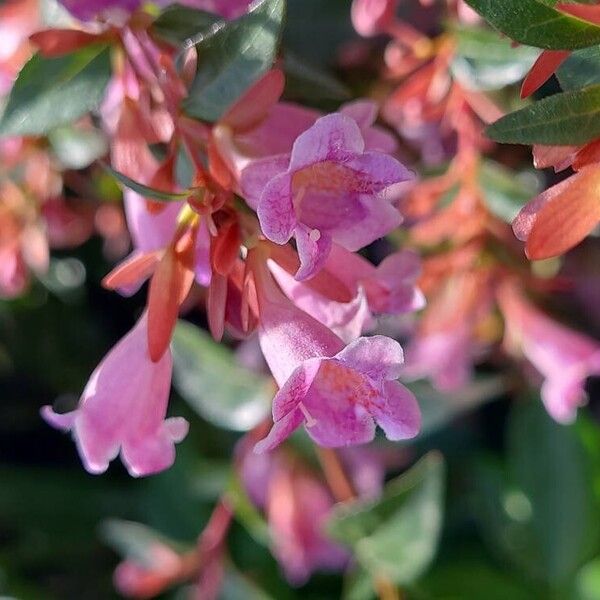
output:
[[[443,517],[444,462],[430,453],[389,482],[377,500],[334,508],[329,532],[350,546],[372,578],[406,585],[431,564]]]

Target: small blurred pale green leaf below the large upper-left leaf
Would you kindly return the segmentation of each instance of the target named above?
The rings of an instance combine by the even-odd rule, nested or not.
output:
[[[67,169],[85,169],[108,151],[106,137],[98,129],[59,127],[48,134],[48,140]]]

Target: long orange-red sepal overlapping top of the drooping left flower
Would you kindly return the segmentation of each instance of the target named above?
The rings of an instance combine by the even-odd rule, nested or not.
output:
[[[169,248],[150,281],[148,293],[148,350],[157,362],[167,350],[179,307],[194,282],[195,232],[188,231]]]

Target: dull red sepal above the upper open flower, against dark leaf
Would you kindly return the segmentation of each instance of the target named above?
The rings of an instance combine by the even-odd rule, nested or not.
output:
[[[284,87],[283,73],[279,69],[268,71],[229,109],[222,122],[236,131],[251,129],[267,116]]]

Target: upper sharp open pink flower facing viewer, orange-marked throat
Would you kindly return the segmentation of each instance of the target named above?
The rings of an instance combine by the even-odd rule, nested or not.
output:
[[[287,170],[264,188],[263,233],[278,244],[296,238],[296,278],[307,279],[323,266],[333,241],[354,251],[397,227],[401,216],[383,192],[410,177],[392,157],[365,152],[356,121],[327,115],[298,137]]]

